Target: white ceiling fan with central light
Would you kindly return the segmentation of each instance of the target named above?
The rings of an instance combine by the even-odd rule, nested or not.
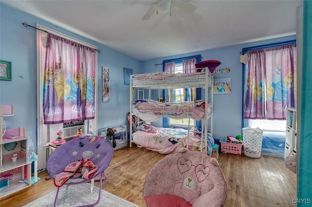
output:
[[[150,19],[155,12],[158,14],[158,12],[167,13],[170,11],[171,16],[171,6],[175,6],[189,13],[193,13],[197,9],[197,6],[194,6],[193,4],[190,4],[184,0],[157,0],[157,2],[154,3],[153,6],[142,17],[142,20]]]

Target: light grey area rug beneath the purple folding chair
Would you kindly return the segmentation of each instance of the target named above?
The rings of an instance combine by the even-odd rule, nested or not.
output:
[[[24,207],[54,207],[57,190],[47,193]],[[59,190],[58,207],[73,207],[95,203],[98,200],[98,188],[91,192],[90,184],[63,186]],[[101,191],[101,198],[96,207],[138,207],[105,190]]]

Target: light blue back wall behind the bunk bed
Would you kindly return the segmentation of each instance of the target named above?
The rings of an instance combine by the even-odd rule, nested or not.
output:
[[[243,48],[253,47],[258,45],[265,45],[275,42],[283,42],[294,40],[296,36],[287,36],[283,38],[276,38],[266,41],[258,41],[249,44],[236,45],[215,50],[206,50],[200,52],[192,52],[176,56],[168,56],[148,60],[143,62],[145,72],[162,71],[163,60],[174,59],[179,57],[186,57],[201,54],[202,60],[218,60],[221,65],[218,68],[230,68],[231,72],[223,74],[215,74],[214,78],[231,78],[232,93],[231,94],[217,94],[214,95],[214,129],[213,136],[219,139],[223,136],[236,136],[242,134],[242,64],[239,62],[240,53]],[[153,122],[154,125],[162,126],[162,120]]]

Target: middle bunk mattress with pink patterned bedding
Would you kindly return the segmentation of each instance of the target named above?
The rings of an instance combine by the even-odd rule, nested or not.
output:
[[[133,105],[133,114],[143,121],[156,121],[160,117],[172,119],[190,118],[200,121],[205,117],[205,101],[177,103],[138,102]],[[213,104],[207,103],[207,117],[213,112]]]

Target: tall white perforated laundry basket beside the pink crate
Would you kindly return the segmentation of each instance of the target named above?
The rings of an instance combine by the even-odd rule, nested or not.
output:
[[[259,158],[261,156],[263,131],[257,128],[243,128],[244,155]]]

